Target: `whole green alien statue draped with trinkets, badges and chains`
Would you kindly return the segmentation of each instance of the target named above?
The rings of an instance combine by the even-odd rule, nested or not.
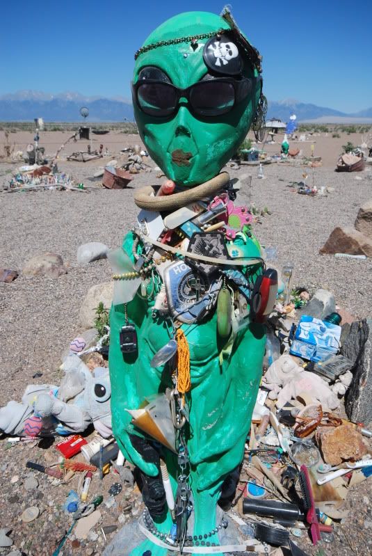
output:
[[[144,540],[126,553],[208,553],[227,527],[217,504],[243,460],[264,356],[250,312],[264,262],[220,174],[259,109],[260,57],[228,12],[191,12],[135,58],[138,130],[171,194],[136,191],[138,226],[111,257],[113,431],[147,506]]]

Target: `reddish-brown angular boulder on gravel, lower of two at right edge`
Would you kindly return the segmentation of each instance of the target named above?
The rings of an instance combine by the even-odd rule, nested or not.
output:
[[[366,237],[354,228],[334,228],[330,237],[319,250],[322,255],[348,253],[349,255],[367,255],[372,257],[372,238]]]

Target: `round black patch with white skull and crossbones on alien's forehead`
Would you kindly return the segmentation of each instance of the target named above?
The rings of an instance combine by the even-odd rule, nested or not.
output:
[[[212,37],[204,46],[204,62],[214,72],[240,74],[243,63],[238,47],[227,35]]]

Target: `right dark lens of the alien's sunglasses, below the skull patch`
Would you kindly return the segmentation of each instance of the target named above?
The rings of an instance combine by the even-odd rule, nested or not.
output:
[[[234,106],[234,86],[223,81],[201,81],[191,89],[190,102],[200,116],[225,114]]]

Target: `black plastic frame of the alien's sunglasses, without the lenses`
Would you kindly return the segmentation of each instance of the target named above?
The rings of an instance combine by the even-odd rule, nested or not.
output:
[[[241,102],[245,97],[248,97],[248,95],[252,94],[252,92],[255,90],[255,85],[257,84],[257,81],[261,81],[261,90],[262,90],[262,77],[261,76],[259,76],[259,77],[243,77],[241,79],[235,79],[234,77],[216,77],[216,79],[207,79],[205,81],[197,81],[197,83],[194,83],[193,85],[187,87],[186,89],[181,89],[181,88],[175,86],[172,83],[167,83],[166,81],[160,81],[158,79],[140,79],[139,81],[136,81],[136,83],[131,81],[131,92],[132,92],[133,100],[134,100],[134,102],[136,102],[136,105],[138,106],[138,109],[140,109],[140,111],[145,113],[147,116],[152,116],[154,118],[171,118],[172,116],[175,116],[175,114],[179,111],[179,106],[180,106],[179,100],[181,98],[186,98],[186,100],[188,102],[187,108],[191,113],[193,113],[194,116],[197,116],[199,118],[216,118],[218,116],[223,116],[223,115],[229,113],[230,111],[232,111],[232,109],[234,109],[236,104]],[[191,91],[195,90],[195,88],[200,87],[202,85],[205,85],[207,83],[211,83],[211,82],[231,84],[234,88],[234,104],[232,104],[232,106],[229,106],[229,108],[225,111],[218,111],[218,112],[213,113],[213,114],[204,114],[204,113],[201,113],[200,111],[198,111],[197,109],[195,109],[193,104],[191,104],[190,95],[191,95]],[[243,86],[245,86],[245,84],[247,84],[247,83],[249,83],[250,86],[248,87],[248,92],[246,94],[244,94]],[[162,86],[170,87],[170,88],[172,88],[172,90],[175,90],[175,92],[176,92],[175,108],[172,109],[171,112],[166,113],[166,114],[149,113],[149,112],[145,111],[142,106],[140,106],[140,103],[138,102],[138,90],[139,90],[140,86],[149,85],[149,84],[159,84],[159,85],[162,85]]]

